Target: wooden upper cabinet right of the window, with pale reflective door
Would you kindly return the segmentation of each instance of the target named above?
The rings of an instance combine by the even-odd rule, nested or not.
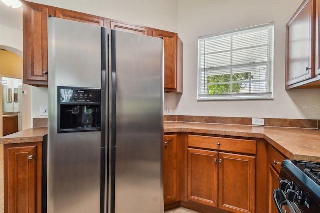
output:
[[[286,25],[286,89],[320,88],[318,0],[304,0]]]

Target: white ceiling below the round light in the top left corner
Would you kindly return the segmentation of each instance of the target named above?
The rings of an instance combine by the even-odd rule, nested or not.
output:
[[[0,24],[22,31],[22,6],[11,8],[0,2]],[[1,30],[1,29],[0,29]]]

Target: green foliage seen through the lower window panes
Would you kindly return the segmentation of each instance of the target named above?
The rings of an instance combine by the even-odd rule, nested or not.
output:
[[[241,89],[246,86],[246,83],[233,83],[232,90],[230,91],[230,83],[226,84],[211,84],[211,83],[221,83],[221,82],[230,82],[230,74],[221,74],[221,75],[211,75],[207,76],[207,94],[230,94],[238,93]],[[232,82],[238,81],[247,81],[253,79],[253,74],[251,72],[245,73],[234,73],[232,74]]]

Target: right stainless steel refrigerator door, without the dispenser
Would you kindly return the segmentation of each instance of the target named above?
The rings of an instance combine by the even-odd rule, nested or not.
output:
[[[110,36],[109,212],[162,213],[163,40]]]

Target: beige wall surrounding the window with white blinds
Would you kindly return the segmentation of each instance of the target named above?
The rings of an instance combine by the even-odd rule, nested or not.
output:
[[[166,94],[173,114],[320,119],[320,89],[285,90],[285,25],[302,0],[181,0],[183,94]],[[197,38],[274,22],[274,100],[197,101]]]

